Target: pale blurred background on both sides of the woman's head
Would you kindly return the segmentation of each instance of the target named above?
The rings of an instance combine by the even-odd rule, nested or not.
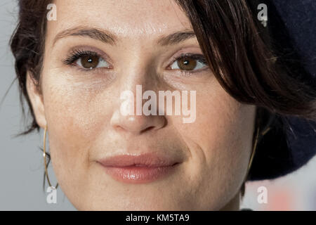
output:
[[[13,56],[8,41],[17,21],[16,1],[1,0],[0,4],[0,99],[4,97],[15,77]],[[41,150],[43,131],[24,137],[13,138],[25,129],[22,120],[18,82],[15,82],[4,102],[0,105],[0,210],[75,210],[58,188],[57,204],[46,203],[47,193],[43,190],[44,161]],[[50,178],[55,184],[52,169]],[[269,193],[277,188],[287,189],[296,199],[292,206],[279,210],[316,210],[316,158],[308,165],[275,181],[253,182],[246,185],[242,207],[267,210],[268,205],[256,202],[258,186],[267,186]],[[269,194],[268,193],[268,194]],[[299,200],[299,203],[298,201]],[[269,201],[273,202],[269,198]],[[282,201],[282,200],[281,200]],[[271,206],[270,209],[273,209]]]

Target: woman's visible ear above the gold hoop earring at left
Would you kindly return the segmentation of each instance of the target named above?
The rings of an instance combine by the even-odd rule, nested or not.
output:
[[[31,101],[32,109],[34,112],[35,120],[41,128],[46,126],[45,110],[44,110],[44,101],[43,95],[39,93],[37,85],[34,82],[30,72],[27,72],[27,94],[29,96],[29,101]]]

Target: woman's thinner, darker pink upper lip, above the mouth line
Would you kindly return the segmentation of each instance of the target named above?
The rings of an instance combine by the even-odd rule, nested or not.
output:
[[[179,160],[157,153],[138,153],[114,155],[98,161],[104,167],[168,167]]]

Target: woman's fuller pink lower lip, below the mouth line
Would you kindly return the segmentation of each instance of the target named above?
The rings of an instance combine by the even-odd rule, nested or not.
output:
[[[176,169],[176,165],[164,167],[104,167],[113,179],[124,183],[143,184],[162,179]]]

